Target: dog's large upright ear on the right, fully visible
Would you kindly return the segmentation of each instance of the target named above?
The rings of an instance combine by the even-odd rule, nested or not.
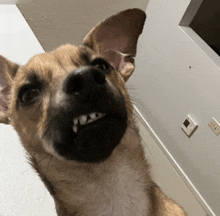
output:
[[[134,71],[137,40],[146,19],[140,9],[128,9],[100,22],[84,38],[84,45],[101,53],[125,81]]]

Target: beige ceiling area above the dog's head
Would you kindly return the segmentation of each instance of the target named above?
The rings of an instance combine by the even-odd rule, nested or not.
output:
[[[84,36],[101,20],[127,8],[146,10],[149,0],[0,0],[17,4],[45,51],[72,43],[81,44]]]

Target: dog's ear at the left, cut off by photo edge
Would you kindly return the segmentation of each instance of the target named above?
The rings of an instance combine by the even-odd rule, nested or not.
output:
[[[0,55],[0,123],[9,123],[6,113],[8,108],[8,95],[18,67],[19,65]]]

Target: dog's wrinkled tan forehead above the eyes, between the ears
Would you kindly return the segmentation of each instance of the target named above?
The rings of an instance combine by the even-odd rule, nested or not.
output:
[[[39,79],[52,79],[61,76],[62,72],[70,72],[77,67],[87,65],[96,54],[86,46],[63,45],[50,53],[42,53],[32,57],[22,66],[18,73],[18,80],[27,81],[33,74]]]

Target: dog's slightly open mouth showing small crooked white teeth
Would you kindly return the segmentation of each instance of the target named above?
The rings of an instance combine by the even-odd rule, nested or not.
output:
[[[103,119],[106,113],[92,112],[86,115],[80,115],[73,119],[73,131],[77,134],[79,130],[91,126],[92,123],[97,123],[98,120]]]

